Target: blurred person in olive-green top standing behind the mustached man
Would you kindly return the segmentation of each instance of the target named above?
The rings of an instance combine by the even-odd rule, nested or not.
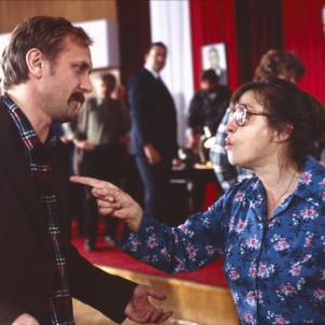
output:
[[[120,186],[127,161],[129,115],[119,100],[112,94],[116,87],[113,74],[100,76],[98,96],[87,101],[80,110],[74,144],[79,174],[104,179]],[[86,188],[84,249],[95,249],[98,237],[98,207]],[[105,219],[105,240],[115,245],[116,221]]]

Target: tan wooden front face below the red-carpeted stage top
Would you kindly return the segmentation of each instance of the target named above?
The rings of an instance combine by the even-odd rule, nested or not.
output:
[[[179,325],[236,325],[236,310],[229,289],[187,282],[178,278],[131,272],[117,268],[102,268],[108,273],[120,275],[136,283],[164,291],[168,299],[156,303],[173,315],[164,324]],[[76,325],[112,325],[114,322],[89,306],[74,300]],[[123,325],[135,323],[126,320]]]

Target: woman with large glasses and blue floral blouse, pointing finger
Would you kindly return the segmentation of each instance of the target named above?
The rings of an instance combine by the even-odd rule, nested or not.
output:
[[[166,226],[93,179],[100,210],[128,225],[123,249],[167,272],[224,259],[240,324],[325,324],[325,167],[309,154],[324,110],[284,80],[250,82],[231,100],[225,148],[256,177],[206,212]]]

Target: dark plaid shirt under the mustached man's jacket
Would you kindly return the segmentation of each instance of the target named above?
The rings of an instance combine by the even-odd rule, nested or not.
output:
[[[52,169],[50,166],[50,150],[57,144],[57,139],[50,134],[49,140],[43,144],[35,133],[30,122],[5,94],[4,106],[18,129],[20,135],[27,151],[29,158],[30,173],[38,193],[43,216],[55,255],[56,276],[53,283],[53,294],[49,297],[49,307],[52,312],[53,325],[73,325],[73,303],[67,283],[66,259],[61,244],[60,227],[57,224],[58,210],[56,196],[53,191]]]

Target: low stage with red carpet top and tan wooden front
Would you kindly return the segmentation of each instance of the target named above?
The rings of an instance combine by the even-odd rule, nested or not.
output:
[[[196,272],[170,275],[132,259],[116,247],[109,247],[103,236],[99,238],[96,251],[84,251],[83,238],[78,236],[76,231],[73,233],[73,243],[79,252],[104,271],[164,291],[168,299],[159,306],[173,311],[172,317],[165,324],[238,324],[233,299],[223,275],[222,261],[213,262]],[[77,325],[115,324],[79,301],[74,300],[74,308]],[[134,323],[126,320],[122,324]]]

